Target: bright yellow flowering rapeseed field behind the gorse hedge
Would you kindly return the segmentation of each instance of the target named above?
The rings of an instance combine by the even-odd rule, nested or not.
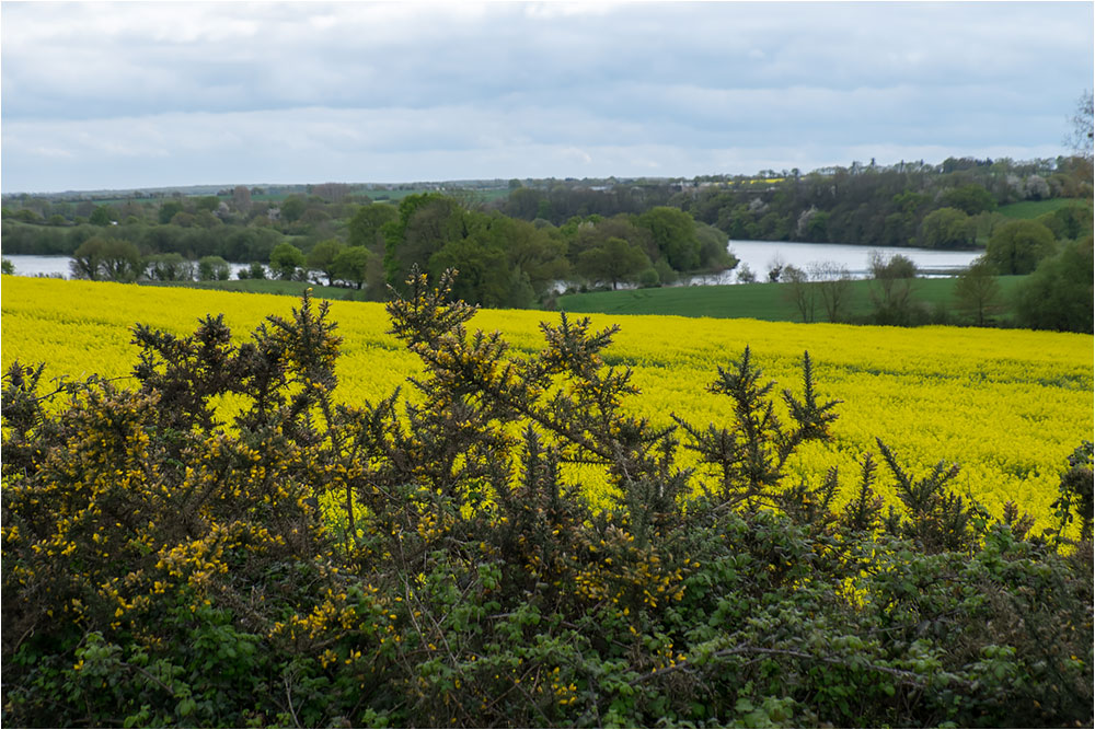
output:
[[[182,288],[2,278],[2,347],[16,358],[47,363],[46,376],[126,375],[137,359],[129,327],[141,322],[189,334],[206,314],[224,314],[239,339],[268,314],[287,315],[287,297]],[[416,358],[384,334],[380,304],[334,302],[344,337],[338,397],[388,395],[418,371]],[[472,324],[498,329],[519,350],[540,348],[538,324],[556,314],[483,311]],[[670,316],[593,315],[598,327],[619,324],[606,354],[635,372],[642,395],[632,408],[655,422],[676,413],[692,424],[728,420],[729,401],[705,392],[716,367],[753,359],[779,387],[799,389],[804,350],[815,362],[821,395],[835,397],[834,442],[803,450],[793,468],[816,479],[839,466],[851,485],[855,462],[877,454],[881,438],[914,474],[940,460],[963,471],[956,487],[994,514],[1015,500],[1048,526],[1050,502],[1068,455],[1093,430],[1093,340],[1090,335],[1027,331],[855,327]],[[887,479],[880,491],[887,493]],[[887,495],[892,497],[892,495]]]

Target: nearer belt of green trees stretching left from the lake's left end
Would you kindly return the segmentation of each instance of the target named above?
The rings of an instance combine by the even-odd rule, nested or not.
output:
[[[51,227],[9,217],[4,248],[69,254],[74,276],[118,281],[222,279],[226,262],[252,262],[242,276],[316,276],[332,286],[365,289],[372,299],[387,297],[385,285],[397,286],[413,265],[435,275],[454,267],[463,273],[461,297],[510,308],[544,303],[558,281],[658,286],[682,274],[734,264],[721,232],[666,206],[637,215],[573,217],[555,227],[469,206],[459,197],[422,193],[404,197],[397,206],[353,205],[343,211],[351,213],[344,220],[322,218],[321,208],[330,204],[318,204],[312,218],[322,218],[322,223],[306,234],[297,221],[307,217],[307,210],[274,224],[289,207],[286,204],[278,216],[251,219],[246,225],[233,224],[227,206],[226,220],[220,220],[210,210],[211,201],[205,204],[193,216],[206,224],[197,224],[180,218],[191,215],[185,209],[172,212],[176,205],[173,200],[161,205],[161,213],[171,206],[171,216],[158,219],[166,223],[114,224],[104,218],[97,225]],[[328,235],[314,240],[320,233]]]

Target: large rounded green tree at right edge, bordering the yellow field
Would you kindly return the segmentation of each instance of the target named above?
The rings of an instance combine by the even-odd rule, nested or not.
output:
[[[1019,285],[1015,312],[1018,324],[1034,329],[1092,332],[1092,237],[1064,245],[1044,258]]]

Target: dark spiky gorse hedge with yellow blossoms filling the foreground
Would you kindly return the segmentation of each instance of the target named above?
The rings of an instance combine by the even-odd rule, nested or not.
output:
[[[450,285],[389,305],[425,371],[378,403],[333,399],[307,296],[240,345],[137,326],[134,387],[14,363],[4,725],[1091,723],[1090,445],[1039,536],[879,442],[887,510],[872,454],[788,475],[839,406],[808,356],[800,395],[746,350],[725,425],[655,425],[614,329],[514,355]]]

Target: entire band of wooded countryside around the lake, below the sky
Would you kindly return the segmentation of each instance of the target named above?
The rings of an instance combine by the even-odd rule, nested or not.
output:
[[[726,252],[727,236],[983,247],[984,260],[967,277],[979,283],[963,285],[978,322],[991,322],[993,291],[986,276],[1034,274],[1042,267],[1022,298],[1023,309],[1038,314],[1023,321],[1090,328],[1082,324],[1090,320],[1086,310],[1075,304],[1091,299],[1077,278],[1091,269],[1086,157],[950,158],[938,165],[872,162],[807,174],[762,171],[751,177],[597,183],[514,179],[508,195],[489,204],[451,190],[376,202],[339,184],[311,186],[277,200],[246,186],[218,195],[97,205],[9,196],[3,247],[5,253],[72,255],[73,275],[84,278],[223,279],[227,262],[237,262],[251,264],[238,273],[241,277],[311,278],[371,299],[387,298],[388,286],[399,288],[413,265],[435,276],[451,267],[462,271],[461,298],[509,308],[551,306],[560,282],[649,287],[672,283],[683,274],[725,269],[735,264]],[[1001,205],[1048,197],[1074,202],[1034,220],[1015,221],[996,211]],[[788,267],[782,276],[766,274],[793,285],[789,296],[804,320],[815,316],[811,308],[839,318],[840,271]],[[750,276],[739,271],[742,280]],[[890,280],[901,279],[879,279]],[[925,321],[912,298],[881,296],[886,301],[878,309],[889,314],[880,321]]]

